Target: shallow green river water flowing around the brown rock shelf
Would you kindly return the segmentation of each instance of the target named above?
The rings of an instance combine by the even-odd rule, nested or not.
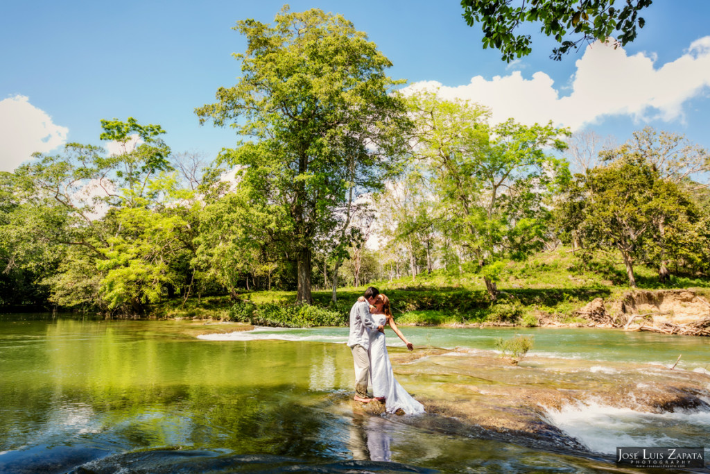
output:
[[[702,410],[548,411],[548,421],[589,448],[579,455],[443,433],[426,419],[403,423],[353,409],[347,328],[257,328],[198,339],[185,333],[188,325],[194,332],[193,323],[180,321],[0,318],[0,473],[591,473],[618,472],[609,450],[621,441],[710,447],[710,413]],[[710,370],[704,338],[403,331],[417,347],[471,350],[530,333],[532,355],[598,361],[600,372],[607,362],[672,365],[681,353],[679,370]],[[398,340],[390,342],[397,352]],[[664,431],[669,424],[672,436]],[[638,430],[643,440],[633,438]]]

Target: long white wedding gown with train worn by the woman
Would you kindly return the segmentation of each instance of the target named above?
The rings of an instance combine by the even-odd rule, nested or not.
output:
[[[383,314],[373,314],[372,318],[377,325],[387,322],[387,316]],[[424,413],[424,405],[413,399],[395,379],[385,335],[378,330],[370,331],[370,377],[373,397],[385,397],[388,413],[395,413],[398,409],[408,415]]]

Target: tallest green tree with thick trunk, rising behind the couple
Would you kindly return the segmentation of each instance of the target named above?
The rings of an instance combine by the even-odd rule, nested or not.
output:
[[[297,262],[297,301],[310,303],[312,251],[343,218],[349,190],[379,188],[405,145],[403,101],[385,75],[390,61],[339,15],[284,7],[268,25],[234,28],[248,43],[242,77],[221,87],[200,122],[231,123],[256,141],[223,153],[245,166],[244,186],[285,210],[293,234],[281,239]]]

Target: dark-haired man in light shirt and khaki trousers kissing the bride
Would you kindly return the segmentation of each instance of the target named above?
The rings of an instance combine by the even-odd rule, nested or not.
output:
[[[376,325],[370,315],[370,305],[375,302],[375,298],[380,294],[374,286],[365,290],[365,300],[357,301],[350,309],[350,336],[348,347],[353,353],[355,364],[355,399],[358,402],[371,402],[367,396],[367,381],[370,377],[370,356],[367,350],[370,348],[369,331],[378,330],[384,332],[382,325]]]

